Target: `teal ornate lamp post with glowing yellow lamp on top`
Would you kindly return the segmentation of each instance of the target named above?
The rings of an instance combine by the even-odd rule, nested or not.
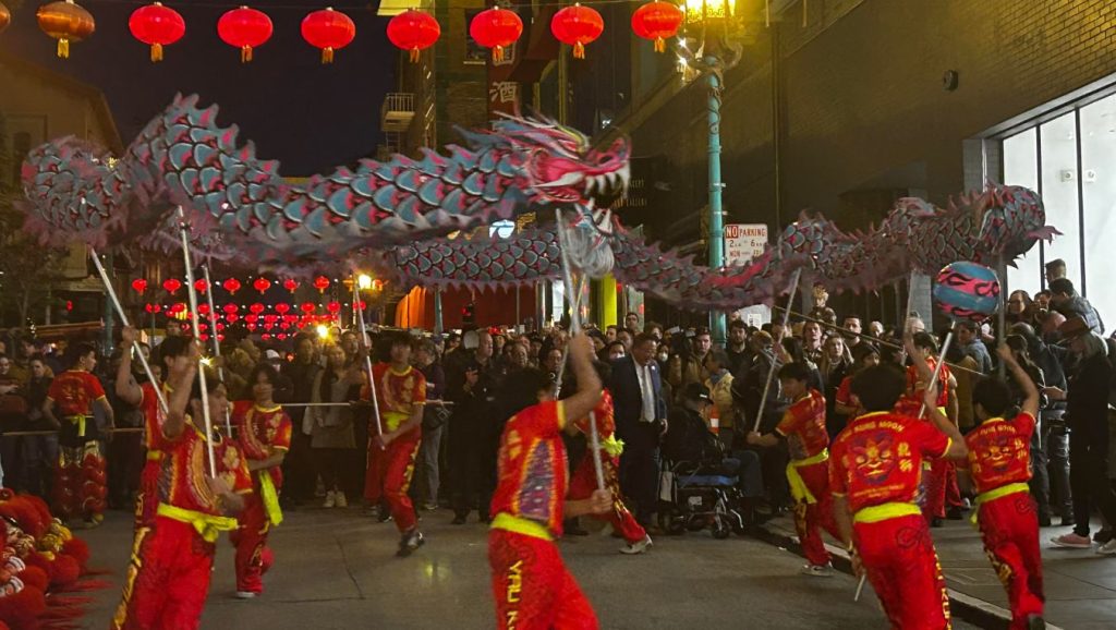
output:
[[[739,35],[742,25],[735,15],[735,0],[689,0],[684,6],[686,37],[679,47],[680,71],[689,80],[704,78],[709,90],[709,265],[724,266],[724,212],[721,193],[721,95],[724,70],[740,60]],[[735,36],[735,37],[734,37]],[[733,41],[737,39],[738,41]],[[713,340],[724,343],[724,313],[710,314]]]

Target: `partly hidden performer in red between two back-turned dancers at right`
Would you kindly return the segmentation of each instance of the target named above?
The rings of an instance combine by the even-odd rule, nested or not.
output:
[[[911,365],[907,365],[907,386],[905,395],[895,405],[895,412],[903,416],[918,417],[918,410],[923,408],[923,393],[926,384],[934,374],[939,357],[937,342],[927,333],[915,333],[913,336],[914,349],[911,353]],[[953,395],[958,381],[950,373],[949,365],[942,365],[937,373],[937,398],[934,399],[934,408],[943,416],[955,420],[958,417],[958,400]],[[931,405],[926,404],[929,409]],[[927,418],[924,411],[921,416]],[[926,465],[923,471],[922,514],[937,527],[945,518],[945,498],[950,494],[960,499],[961,491],[958,489],[958,471],[952,461],[945,459],[933,459]]]

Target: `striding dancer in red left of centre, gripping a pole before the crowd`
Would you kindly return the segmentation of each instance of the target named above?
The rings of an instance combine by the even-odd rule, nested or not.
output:
[[[397,553],[406,556],[425,542],[407,490],[422,440],[426,378],[411,366],[414,340],[410,335],[396,334],[389,343],[391,363],[377,363],[372,370],[382,429],[378,435],[375,427],[369,431],[364,498],[368,505],[378,504],[381,498],[387,500],[401,536]],[[367,386],[362,398],[369,399]]]

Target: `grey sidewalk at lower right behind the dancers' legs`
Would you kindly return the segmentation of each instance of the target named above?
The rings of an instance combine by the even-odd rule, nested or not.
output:
[[[1048,628],[1116,628],[1116,557],[1097,555],[1096,545],[1086,551],[1050,544],[1051,537],[1069,531],[1069,527],[1043,527],[1039,533]],[[985,628],[1002,627],[1010,619],[1008,596],[984,555],[980,534],[968,519],[946,521],[943,527],[931,532],[950,589],[953,614]],[[764,524],[762,535],[773,544],[799,551],[789,516]],[[848,555],[839,545],[829,545],[829,551],[835,556],[835,566],[850,571]]]

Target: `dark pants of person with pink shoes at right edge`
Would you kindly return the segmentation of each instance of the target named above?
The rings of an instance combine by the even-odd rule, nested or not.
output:
[[[1069,483],[1074,491],[1074,533],[1089,535],[1089,515],[1096,507],[1116,523],[1116,491],[1108,481],[1108,419],[1078,418],[1069,435]]]

